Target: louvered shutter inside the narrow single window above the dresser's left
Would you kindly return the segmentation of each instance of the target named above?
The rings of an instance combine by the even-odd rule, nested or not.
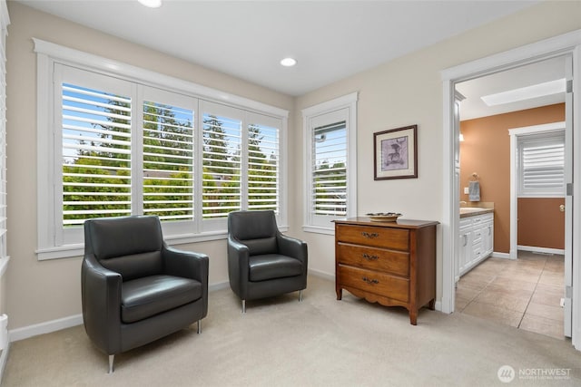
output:
[[[345,121],[312,131],[312,212],[343,217],[347,214],[347,127]]]

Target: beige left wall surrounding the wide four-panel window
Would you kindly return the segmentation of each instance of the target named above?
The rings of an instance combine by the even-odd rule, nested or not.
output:
[[[81,258],[38,261],[36,248],[36,56],[32,38],[114,58],[291,111],[293,99],[249,82],[185,63],[14,2],[7,42],[8,254],[6,312],[10,329],[81,313]],[[290,117],[290,130],[294,123]],[[291,134],[292,137],[292,134]],[[294,168],[291,166],[291,176]],[[291,195],[291,199],[293,196]],[[181,248],[211,257],[210,284],[228,281],[225,241]]]

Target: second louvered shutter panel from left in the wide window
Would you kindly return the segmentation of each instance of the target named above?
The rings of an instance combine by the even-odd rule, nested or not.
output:
[[[143,102],[143,213],[162,220],[192,220],[193,122],[191,109]]]

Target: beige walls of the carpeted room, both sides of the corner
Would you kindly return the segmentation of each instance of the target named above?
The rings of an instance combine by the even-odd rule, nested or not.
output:
[[[39,262],[36,247],[35,56],[32,37],[112,57],[224,92],[294,112],[289,154],[302,160],[300,109],[359,92],[359,214],[398,210],[406,218],[441,220],[442,86],[439,72],[450,66],[581,28],[581,3],[547,2],[505,20],[461,34],[399,60],[351,76],[296,100],[222,73],[184,63],[113,36],[9,3],[8,55],[8,227],[6,304],[10,329],[81,313],[80,258]],[[373,180],[373,132],[419,125],[419,178]],[[290,234],[309,242],[310,269],[334,274],[331,236],[303,233],[304,177],[290,165]],[[441,294],[441,236],[438,235],[438,297]],[[189,246],[211,256],[211,283],[227,280],[223,241]]]

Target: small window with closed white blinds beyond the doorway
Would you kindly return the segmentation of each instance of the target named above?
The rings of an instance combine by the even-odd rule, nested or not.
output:
[[[565,195],[565,132],[518,137],[519,197]]]

